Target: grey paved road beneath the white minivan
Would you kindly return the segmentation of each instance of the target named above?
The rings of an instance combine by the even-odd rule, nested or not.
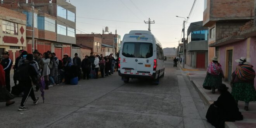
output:
[[[40,92],[35,92],[40,96]],[[17,111],[16,103],[0,103],[0,128],[211,128],[207,106],[185,74],[166,61],[159,85],[133,79],[125,84],[117,73],[98,80],[81,80],[79,85],[58,85],[45,91],[45,103]]]

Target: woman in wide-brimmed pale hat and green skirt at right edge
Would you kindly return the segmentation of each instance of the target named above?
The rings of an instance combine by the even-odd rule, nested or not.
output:
[[[244,110],[248,111],[249,102],[256,101],[254,88],[255,71],[253,66],[246,61],[246,57],[235,60],[239,64],[232,73],[232,92],[234,99],[238,102],[244,101]]]

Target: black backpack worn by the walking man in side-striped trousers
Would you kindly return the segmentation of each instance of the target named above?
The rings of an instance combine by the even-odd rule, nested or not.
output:
[[[18,81],[26,81],[29,78],[29,64],[21,64],[16,70],[16,78]]]

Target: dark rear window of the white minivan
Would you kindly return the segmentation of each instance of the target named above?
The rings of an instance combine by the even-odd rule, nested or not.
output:
[[[132,58],[149,58],[153,56],[153,44],[144,42],[125,42],[122,55]]]

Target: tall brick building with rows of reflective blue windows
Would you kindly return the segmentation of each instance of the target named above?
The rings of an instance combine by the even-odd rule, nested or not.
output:
[[[35,3],[35,49],[50,50],[58,58],[71,54],[76,43],[76,7],[65,0],[33,0]],[[32,29],[31,0],[2,0],[2,7],[22,12],[27,16],[27,29]],[[27,30],[27,49],[32,52],[32,31]]]

